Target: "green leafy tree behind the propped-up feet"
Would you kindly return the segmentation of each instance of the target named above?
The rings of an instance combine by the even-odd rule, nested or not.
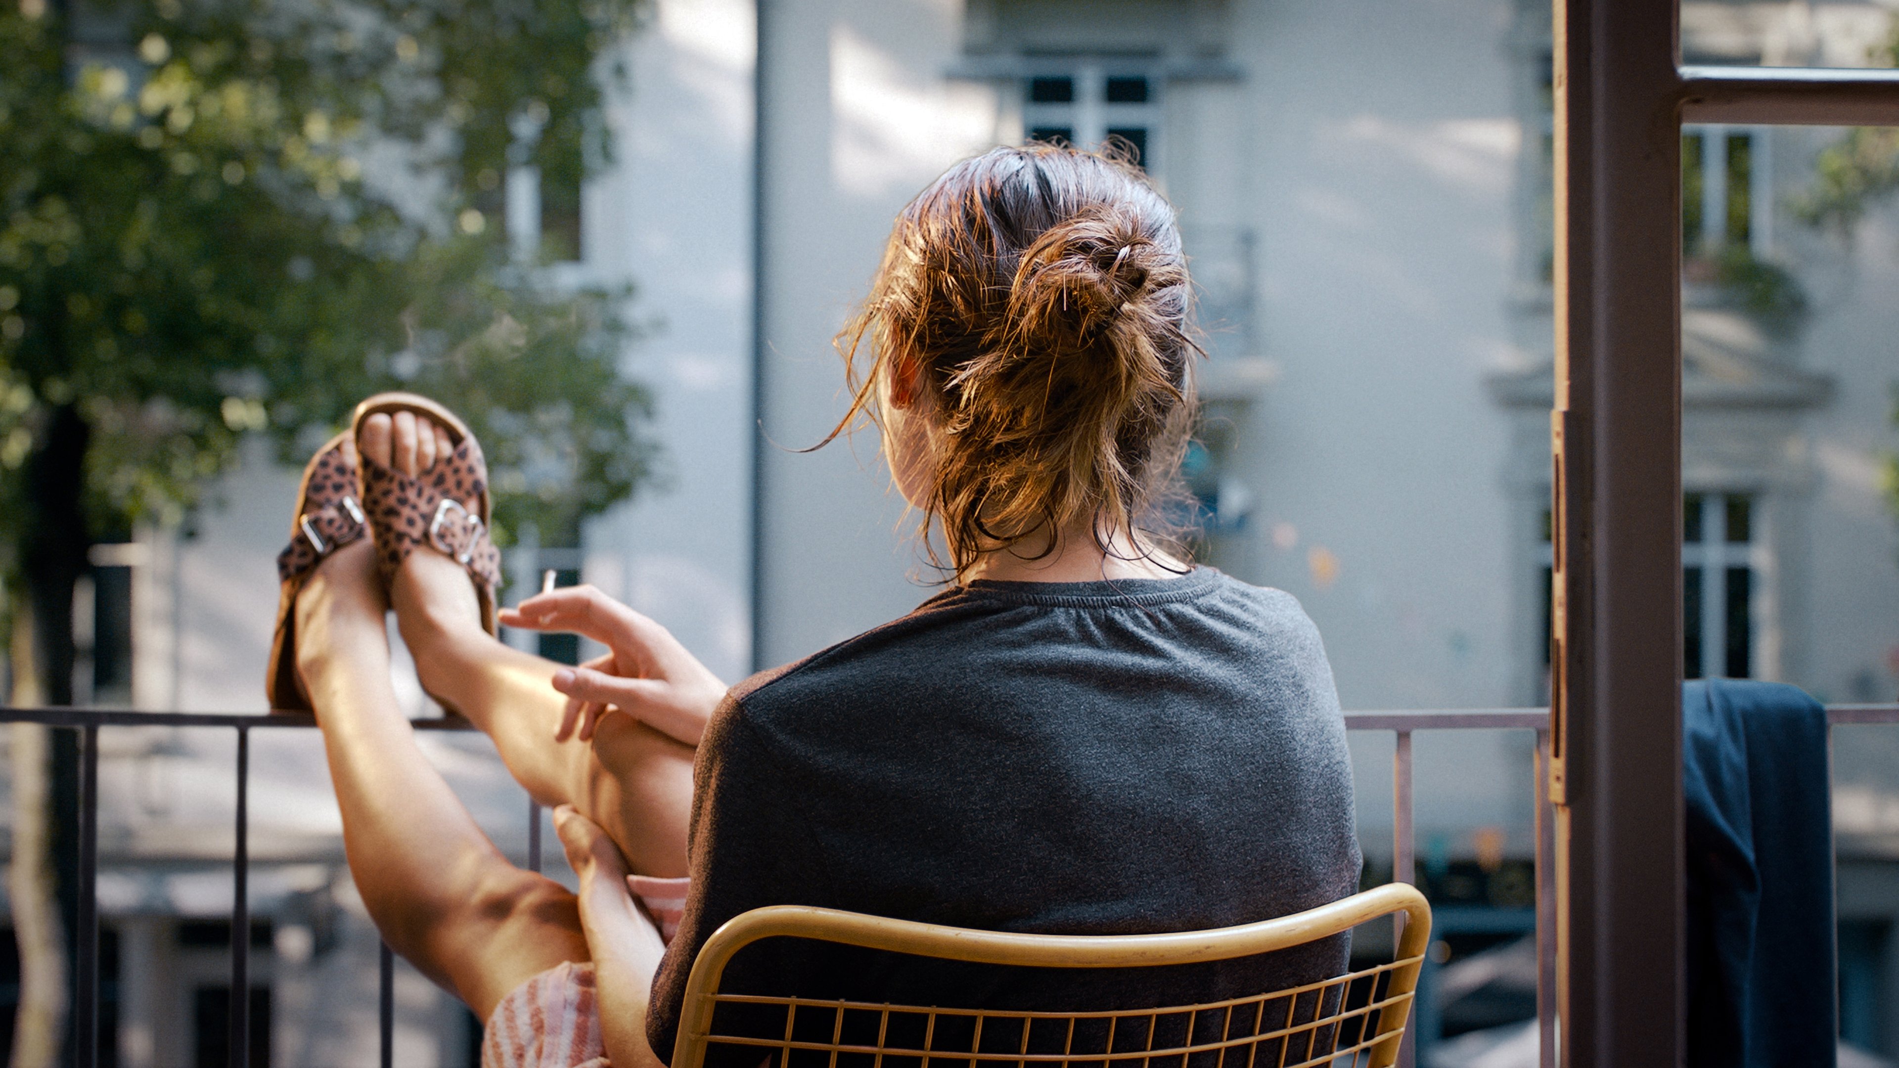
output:
[[[471,420],[498,540],[573,538],[634,490],[651,445],[619,374],[629,293],[520,262],[498,190],[511,165],[577,188],[608,160],[600,86],[638,6],[0,2],[15,684],[70,703],[89,544],[177,523],[247,433],[302,460],[374,390]]]

